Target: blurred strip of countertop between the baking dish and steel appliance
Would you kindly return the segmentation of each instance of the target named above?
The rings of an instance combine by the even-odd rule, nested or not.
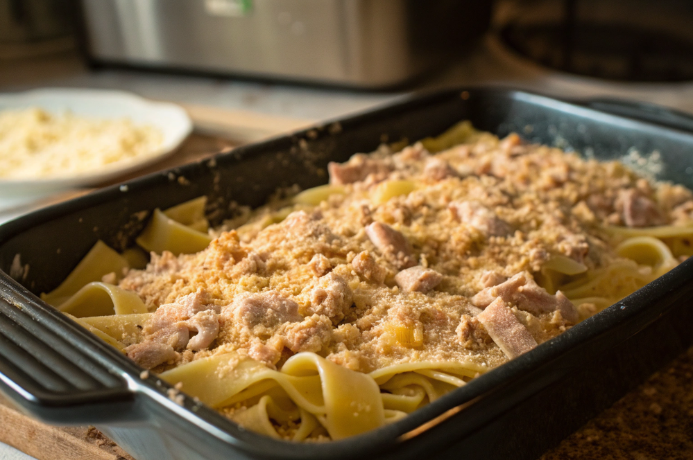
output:
[[[324,121],[406,97],[459,85],[501,85],[558,98],[613,97],[641,100],[693,113],[693,82],[612,82],[550,71],[506,51],[493,35],[459,60],[397,91],[354,91],[330,87],[239,81],[124,69],[89,71],[75,53],[50,59],[3,62],[0,91],[34,87],[123,89],[175,103],[243,109],[260,114]]]

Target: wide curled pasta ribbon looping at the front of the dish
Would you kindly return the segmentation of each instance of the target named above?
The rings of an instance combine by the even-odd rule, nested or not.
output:
[[[318,418],[332,439],[354,436],[385,424],[375,380],[315,353],[293,355],[281,371],[268,369],[237,353],[225,353],[183,364],[161,377],[171,384],[182,383],[183,391],[212,407],[231,405],[279,385],[293,403]],[[260,382],[262,385],[251,388]]]

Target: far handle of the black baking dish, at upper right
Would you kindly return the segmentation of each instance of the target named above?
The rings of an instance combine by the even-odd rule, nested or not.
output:
[[[608,114],[626,116],[660,126],[693,132],[693,116],[662,105],[617,98],[593,98],[579,101],[580,105]]]

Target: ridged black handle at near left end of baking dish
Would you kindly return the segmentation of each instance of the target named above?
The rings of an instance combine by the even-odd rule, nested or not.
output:
[[[113,353],[0,272],[0,393],[47,423],[132,418],[134,393],[105,364]]]

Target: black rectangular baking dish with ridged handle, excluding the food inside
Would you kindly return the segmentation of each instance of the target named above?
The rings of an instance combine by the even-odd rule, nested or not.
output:
[[[607,102],[600,107],[624,107]],[[166,396],[167,384],[155,375],[140,378],[142,369],[36,296],[58,285],[98,238],[117,249],[131,245],[146,222],[135,218],[140,211],[207,195],[209,218],[218,223],[232,213],[232,202],[258,206],[278,187],[326,182],[327,161],[345,161],[383,141],[439,134],[463,119],[500,136],[515,131],[533,142],[590,149],[599,159],[656,150],[666,165],[660,179],[693,188],[693,135],[683,130],[690,120],[657,107],[626,108],[649,121],[522,91],[446,90],[237,148],[4,224],[0,391],[44,421],[96,425],[138,460],[536,458],[692,344],[690,260],[402,421],[323,444],[247,432],[190,398],[177,405]]]

